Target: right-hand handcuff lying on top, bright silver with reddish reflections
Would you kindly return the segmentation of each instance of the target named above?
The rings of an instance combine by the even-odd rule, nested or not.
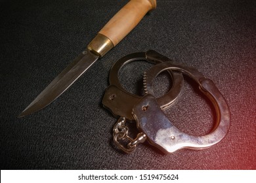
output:
[[[165,116],[154,97],[152,81],[162,71],[171,69],[193,78],[199,85],[200,91],[213,103],[217,114],[215,126],[211,132],[203,136],[193,136],[183,133]],[[221,141],[230,126],[230,110],[228,105],[212,80],[192,67],[183,64],[165,62],[154,65],[147,71],[148,95],[144,96],[133,108],[133,115],[140,131],[146,134],[150,144],[163,152],[175,152],[181,148],[202,149]]]

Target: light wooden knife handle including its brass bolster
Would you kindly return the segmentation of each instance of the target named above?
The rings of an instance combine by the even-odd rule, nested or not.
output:
[[[116,46],[145,16],[156,0],[131,0],[98,32],[87,46],[100,57]]]

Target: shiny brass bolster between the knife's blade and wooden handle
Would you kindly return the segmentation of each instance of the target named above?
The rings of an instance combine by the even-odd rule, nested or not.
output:
[[[114,44],[108,37],[98,33],[93,41],[88,44],[87,48],[102,58],[102,56],[114,48]]]

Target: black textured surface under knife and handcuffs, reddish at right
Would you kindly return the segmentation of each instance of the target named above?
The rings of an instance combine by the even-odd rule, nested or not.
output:
[[[1,1],[1,169],[256,169],[256,1],[157,2],[56,101],[16,118],[127,1]],[[116,149],[116,118],[101,105],[108,73],[117,59],[149,49],[215,82],[231,112],[223,141],[167,155],[148,143],[132,154]],[[140,91],[144,65],[121,71],[130,92]],[[168,83],[164,75],[156,81],[158,95]],[[190,83],[165,113],[186,133],[203,135],[215,113]]]

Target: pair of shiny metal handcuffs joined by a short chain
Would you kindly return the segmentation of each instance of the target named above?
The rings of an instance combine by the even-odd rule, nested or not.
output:
[[[144,96],[127,92],[119,82],[121,67],[131,61],[148,61],[156,63],[144,73]],[[169,92],[156,99],[153,83],[154,78],[163,71],[168,71],[173,85]],[[181,93],[184,83],[183,76],[188,75],[196,81],[200,91],[210,99],[217,114],[216,122],[209,134],[193,136],[182,132],[164,114],[163,109],[171,107]],[[119,120],[113,129],[115,144],[124,152],[135,150],[137,144],[148,141],[165,153],[175,152],[181,148],[203,149],[221,141],[230,126],[230,110],[212,80],[204,78],[202,73],[181,63],[149,50],[129,54],[119,59],[110,71],[110,86],[106,88],[102,104]],[[127,120],[135,121],[140,131],[135,138],[129,136]]]

